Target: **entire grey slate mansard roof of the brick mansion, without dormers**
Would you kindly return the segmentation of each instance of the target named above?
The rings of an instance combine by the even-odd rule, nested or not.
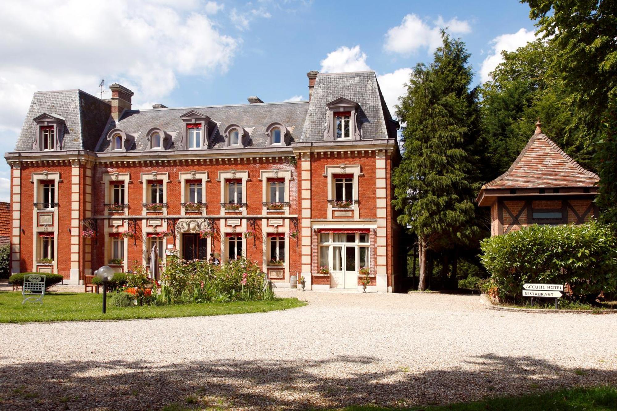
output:
[[[328,102],[346,98],[358,103],[358,125],[362,139],[396,138],[398,123],[384,102],[375,72],[320,73],[315,79],[309,101],[282,103],[230,104],[127,110],[115,122],[111,104],[84,91],[62,90],[35,93],[15,146],[15,151],[31,151],[36,134],[37,116],[48,113],[65,120],[63,150],[103,152],[109,149],[107,133],[118,128],[135,138],[128,151],[146,151],[147,131],[160,128],[172,139],[168,150],[180,147],[184,122],[180,117],[191,110],[210,117],[210,135],[213,148],[225,146],[223,132],[236,124],[249,133],[247,147],[266,147],[266,128],[281,123],[289,131],[291,142],[313,142],[324,139]]]

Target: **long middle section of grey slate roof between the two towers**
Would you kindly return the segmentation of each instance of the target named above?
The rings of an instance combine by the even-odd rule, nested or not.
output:
[[[173,145],[169,149],[173,150],[180,143],[181,131],[184,127],[184,122],[180,116],[190,110],[196,110],[210,117],[212,122],[217,123],[212,135],[215,148],[225,145],[222,134],[225,127],[230,124],[238,124],[249,131],[251,138],[249,147],[265,147],[267,146],[266,127],[274,122],[279,122],[288,128],[291,138],[297,141],[300,138],[300,133],[302,133],[308,106],[308,101],[299,101],[131,110],[125,112],[117,124],[111,123],[106,133],[112,128],[120,128],[125,133],[135,136],[133,150],[144,151],[148,149],[147,131],[153,127],[158,127],[172,136]],[[108,147],[109,141],[104,138],[101,140],[101,146],[97,148],[97,151],[106,151]]]

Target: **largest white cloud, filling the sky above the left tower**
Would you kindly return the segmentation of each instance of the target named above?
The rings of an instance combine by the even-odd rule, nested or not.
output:
[[[221,33],[203,10],[199,1],[181,7],[170,0],[7,3],[0,14],[0,130],[22,127],[35,91],[81,88],[99,95],[104,77],[106,85],[131,88],[142,106],[167,96],[178,75],[225,72],[238,39]]]

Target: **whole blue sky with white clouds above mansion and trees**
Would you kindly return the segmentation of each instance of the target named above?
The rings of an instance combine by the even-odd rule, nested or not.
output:
[[[410,68],[429,62],[448,26],[471,52],[474,81],[500,51],[534,38],[529,8],[499,1],[45,0],[0,15],[0,150],[14,149],[32,93],[117,81],[133,106],[308,98],[309,70],[375,70],[392,107]],[[109,91],[106,88],[107,96]],[[9,197],[0,164],[0,201]]]

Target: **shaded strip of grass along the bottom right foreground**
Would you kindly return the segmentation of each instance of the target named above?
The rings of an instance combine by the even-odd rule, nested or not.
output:
[[[518,397],[499,397],[484,401],[461,402],[457,404],[402,408],[347,407],[344,411],[615,411],[617,409],[617,388],[592,387],[569,388]]]

